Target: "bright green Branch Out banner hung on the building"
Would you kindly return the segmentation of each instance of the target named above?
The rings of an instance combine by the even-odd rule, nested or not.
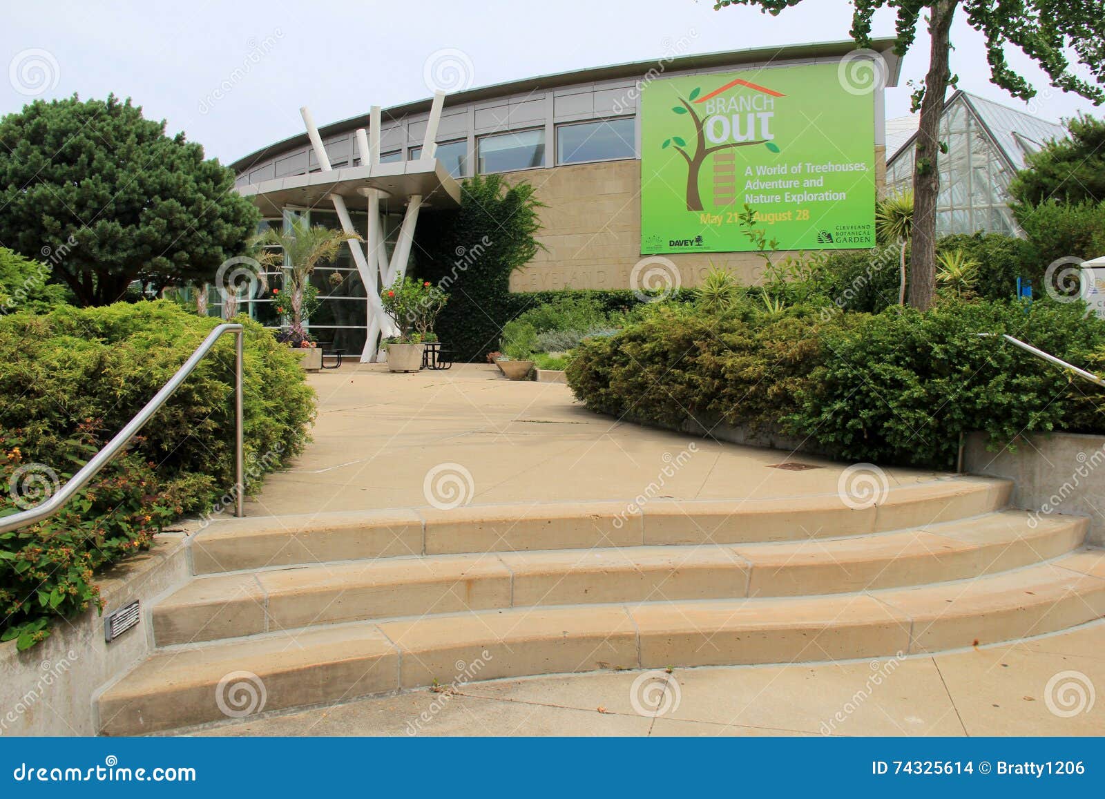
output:
[[[654,81],[641,96],[641,252],[875,243],[874,93],[835,64]]]

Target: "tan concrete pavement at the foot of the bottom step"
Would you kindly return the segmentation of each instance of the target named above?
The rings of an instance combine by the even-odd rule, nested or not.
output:
[[[1070,674],[1052,684],[1049,697],[1049,681],[1062,672]],[[1090,705],[1087,693],[1105,690],[1105,621],[899,661],[677,669],[673,683],[638,688],[642,711],[664,711],[655,717],[633,707],[642,673],[471,683],[456,694],[414,691],[199,734],[1105,735],[1105,697]]]

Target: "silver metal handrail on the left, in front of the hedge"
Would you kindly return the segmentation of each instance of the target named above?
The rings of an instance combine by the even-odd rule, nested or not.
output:
[[[211,348],[214,347],[214,343],[219,340],[227,333],[234,334],[234,470],[236,482],[234,484],[234,515],[242,515],[242,501],[244,494],[243,484],[243,473],[244,463],[242,460],[242,334],[244,327],[234,323],[225,323],[215,327],[203,339],[203,344],[196,348],[191,357],[185,361],[185,365],[177,370],[177,374],[169,379],[167,383],[154,395],[154,399],[146,403],[146,406],[135,414],[123,430],[120,430],[114,439],[108,441],[104,448],[97,452],[91,461],[88,461],[84,466],[66,481],[59,491],[49,497],[45,502],[35,505],[32,508],[23,511],[21,513],[12,514],[11,516],[0,517],[0,533],[7,533],[9,530],[18,529],[24,527],[29,524],[34,524],[35,522],[41,522],[44,518],[50,518],[62,507],[65,506],[73,495],[76,494],[81,488],[87,485],[88,481],[92,480],[96,473],[107,465],[107,463],[118,454],[119,450],[127,445],[127,443],[133,439],[139,430],[141,430],[146,422],[150,420],[160,408],[165,404],[166,400],[172,396],[180,383],[182,383],[196,366],[203,359]]]

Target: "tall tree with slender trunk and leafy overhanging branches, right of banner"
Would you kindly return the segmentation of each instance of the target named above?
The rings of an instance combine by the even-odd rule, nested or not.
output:
[[[778,14],[802,0],[718,0],[720,9],[755,6]],[[930,36],[928,73],[916,86],[914,111],[920,109],[914,167],[915,220],[912,242],[909,304],[922,311],[933,304],[936,276],[936,198],[939,192],[937,159],[940,154],[940,114],[948,86],[957,82],[948,65],[951,22],[960,9],[967,24],[986,40],[990,80],[1014,97],[1029,99],[1036,90],[1006,60],[1006,45],[1023,51],[1048,73],[1051,85],[1075,92],[1095,103],[1105,101],[1105,13],[1099,0],[852,0],[852,38],[861,48],[871,45],[871,25],[876,11],[894,9],[897,42],[904,56],[925,22]],[[1090,78],[1072,70],[1069,53]]]

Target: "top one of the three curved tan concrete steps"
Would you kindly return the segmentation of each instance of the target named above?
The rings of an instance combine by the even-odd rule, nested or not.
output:
[[[888,533],[1004,507],[1009,481],[951,476],[867,507],[839,494],[769,500],[470,505],[220,519],[192,536],[193,574],[410,555],[751,544]],[[856,503],[853,503],[856,504]]]

